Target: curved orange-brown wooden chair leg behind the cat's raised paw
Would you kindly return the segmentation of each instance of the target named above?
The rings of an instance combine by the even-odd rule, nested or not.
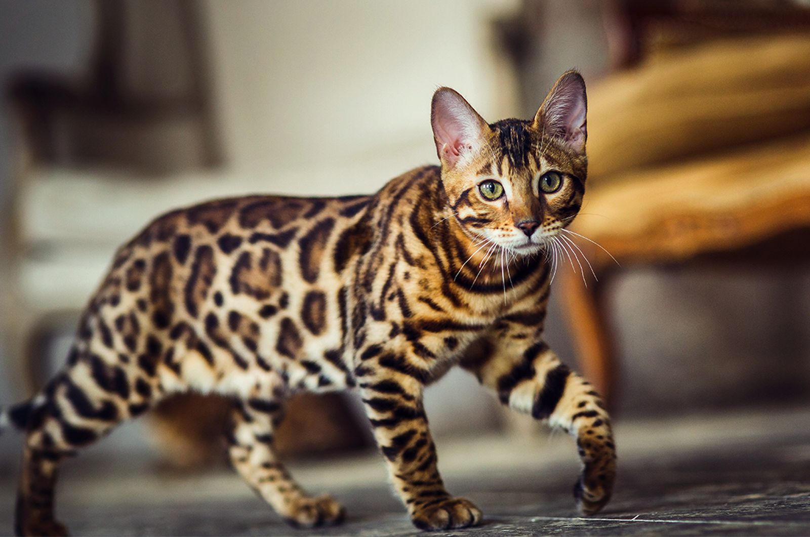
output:
[[[591,280],[586,288],[577,275],[565,274],[561,287],[581,373],[609,407],[616,407],[616,357],[603,304],[607,277],[599,275],[599,282]]]

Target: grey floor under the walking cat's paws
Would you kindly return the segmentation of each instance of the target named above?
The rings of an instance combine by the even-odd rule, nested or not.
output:
[[[810,407],[620,421],[616,439],[620,479],[592,518],[573,509],[568,437],[440,439],[448,488],[484,510],[482,526],[447,535],[810,535]],[[419,533],[377,454],[290,466],[311,492],[343,501],[343,526],[296,531],[230,471],[171,476],[140,459],[70,463],[58,512],[75,535]],[[0,475],[0,534],[11,531],[12,478]]]

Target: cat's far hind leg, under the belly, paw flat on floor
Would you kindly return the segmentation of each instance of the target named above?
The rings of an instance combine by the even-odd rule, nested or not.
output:
[[[309,497],[276,456],[273,433],[282,418],[276,398],[237,401],[228,435],[233,467],[286,522],[296,527],[330,526],[343,521],[343,506],[328,496]]]

